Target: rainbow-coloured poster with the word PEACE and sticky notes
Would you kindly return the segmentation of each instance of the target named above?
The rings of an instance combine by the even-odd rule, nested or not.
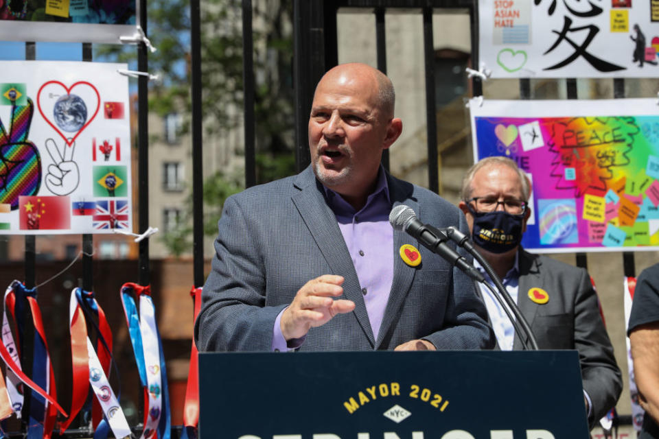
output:
[[[659,250],[656,99],[470,102],[474,160],[507,156],[532,183],[522,245]]]

